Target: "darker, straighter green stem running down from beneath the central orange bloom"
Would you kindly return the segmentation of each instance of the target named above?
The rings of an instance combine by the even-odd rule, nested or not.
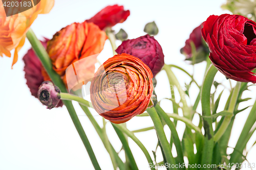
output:
[[[113,125],[113,124],[112,124]],[[133,153],[129,147],[129,143],[128,141],[126,140],[126,137],[124,136],[124,134],[122,133],[122,131],[120,131],[117,127],[113,126],[113,128],[115,129],[116,131],[116,134],[118,135],[120,141],[122,142],[122,145],[123,145],[123,149],[125,151],[125,154],[127,155],[127,158],[129,159],[130,161],[130,165],[132,166],[132,169],[136,170],[138,169],[138,166],[135,162],[135,159],[133,157]]]

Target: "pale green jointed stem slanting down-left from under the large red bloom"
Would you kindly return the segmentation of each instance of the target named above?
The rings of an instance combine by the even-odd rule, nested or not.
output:
[[[234,107],[236,106],[236,103],[237,103],[240,87],[241,87],[241,82],[237,82],[237,85],[233,90],[233,94],[232,94],[230,104],[229,104],[229,107],[228,107],[228,112],[230,112],[230,113],[234,112]],[[214,135],[214,141],[215,142],[217,142],[221,138],[221,136],[225,133],[232,117],[233,117],[233,114],[225,116],[219,130]]]

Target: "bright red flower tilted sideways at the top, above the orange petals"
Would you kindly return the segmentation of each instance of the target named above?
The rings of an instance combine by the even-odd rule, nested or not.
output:
[[[130,11],[124,11],[123,6],[113,5],[105,7],[87,22],[93,22],[103,30],[106,27],[113,27],[117,23],[122,23],[129,15]]]

